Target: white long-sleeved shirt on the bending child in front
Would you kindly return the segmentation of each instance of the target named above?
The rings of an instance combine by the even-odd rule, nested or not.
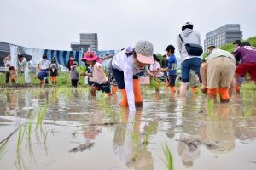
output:
[[[125,48],[125,50],[115,54],[112,59],[112,67],[113,69],[124,71],[125,90],[127,94],[129,110],[136,111],[133,93],[133,75],[136,75],[142,70],[136,67],[133,55],[127,56],[127,54],[125,54],[127,51],[131,52],[130,50],[131,48]]]

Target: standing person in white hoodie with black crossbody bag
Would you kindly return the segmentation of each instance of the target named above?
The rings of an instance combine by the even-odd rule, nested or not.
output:
[[[180,94],[185,95],[189,86],[189,72],[194,69],[198,75],[200,82],[200,66],[201,66],[201,54],[202,48],[200,34],[193,30],[194,25],[191,22],[186,22],[182,26],[182,32],[177,36],[177,47],[181,55],[181,70],[182,70],[182,83],[180,86]],[[199,50],[193,53],[194,50],[188,50],[189,45],[197,46]],[[195,48],[192,48],[195,49]]]

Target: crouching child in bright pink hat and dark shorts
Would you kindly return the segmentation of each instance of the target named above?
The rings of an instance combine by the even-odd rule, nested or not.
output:
[[[90,94],[96,96],[96,91],[101,90],[102,92],[111,95],[110,83],[102,69],[102,65],[99,63],[100,59],[98,56],[93,52],[86,52],[83,57],[83,61],[84,60],[92,68],[93,84],[90,88]]]

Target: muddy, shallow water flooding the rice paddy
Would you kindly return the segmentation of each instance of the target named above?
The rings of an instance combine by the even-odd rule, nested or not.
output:
[[[255,92],[211,109],[203,94],[181,98],[165,88],[159,94],[145,88],[143,109],[135,115],[119,108],[119,93],[99,94],[92,98],[86,88],[2,89],[0,141],[19,125],[23,139],[19,151],[19,130],[1,144],[0,168],[167,169],[167,144],[176,170],[256,169]],[[29,122],[31,135],[23,131]]]

